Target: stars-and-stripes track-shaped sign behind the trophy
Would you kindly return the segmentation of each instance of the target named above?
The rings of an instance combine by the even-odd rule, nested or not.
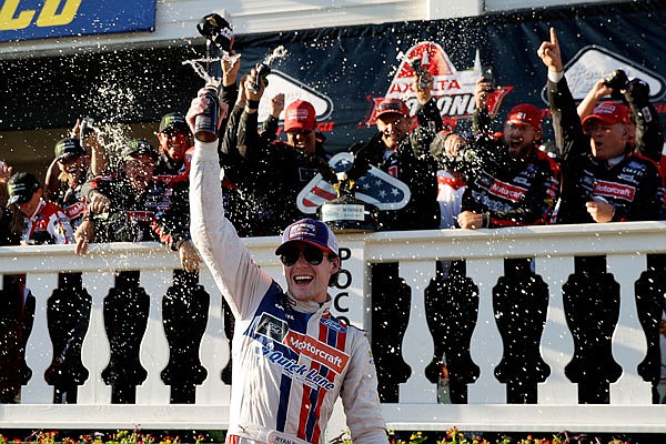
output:
[[[353,163],[354,154],[349,152],[337,153],[329,161],[335,173],[349,171]],[[356,181],[355,196],[380,210],[400,210],[410,202],[412,194],[404,182],[376,167],[370,167],[370,170]],[[335,198],[337,198],[335,188],[324,180],[322,174],[316,174],[299,193],[296,204],[303,213],[312,214],[316,213],[319,206]]]

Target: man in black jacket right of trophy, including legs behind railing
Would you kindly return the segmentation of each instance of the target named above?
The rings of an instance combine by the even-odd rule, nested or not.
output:
[[[406,104],[395,98],[382,100],[375,110],[377,132],[356,153],[354,165],[374,165],[404,182],[410,202],[395,211],[381,211],[383,231],[436,230],[440,226],[437,165],[430,143],[443,128],[442,117],[432,98],[430,72],[414,79],[417,125]],[[398,275],[397,263],[372,265],[372,350],[379,374],[382,402],[397,402],[398,386],[412,370],[402,359],[402,340],[410,316],[411,290]]]

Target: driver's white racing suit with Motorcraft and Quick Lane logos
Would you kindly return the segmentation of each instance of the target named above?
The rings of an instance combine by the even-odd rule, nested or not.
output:
[[[323,444],[337,396],[354,444],[387,443],[364,332],[334,317],[330,299],[295,301],[254,264],[223,216],[218,142],[195,147],[192,241],[236,320],[228,444]]]

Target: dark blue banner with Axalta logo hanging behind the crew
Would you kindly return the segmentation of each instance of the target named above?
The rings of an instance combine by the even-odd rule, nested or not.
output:
[[[311,101],[319,129],[326,137],[325,147],[336,152],[372,137],[374,107],[383,98],[400,98],[415,105],[410,64],[415,58],[434,77],[433,95],[445,128],[468,129],[474,82],[482,74],[495,82],[490,107],[498,130],[517,103],[533,103],[547,117],[546,69],[536,49],[549,38],[551,27],[557,29],[576,100],[582,100],[596,80],[624,69],[629,78],[649,84],[652,100],[663,115],[665,20],[664,1],[645,1],[239,36],[235,49],[243,53],[246,71],[273,49],[285,48],[286,57],[272,65],[265,97],[284,92],[286,103]],[[264,100],[260,120],[268,112]],[[546,123],[547,140],[552,133]]]

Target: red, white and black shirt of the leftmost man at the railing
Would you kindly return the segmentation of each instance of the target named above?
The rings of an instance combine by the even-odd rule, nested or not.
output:
[[[52,202],[40,199],[34,213],[23,218],[26,229],[21,242],[26,244],[67,244],[73,243],[74,233],[69,218],[62,209]]]

